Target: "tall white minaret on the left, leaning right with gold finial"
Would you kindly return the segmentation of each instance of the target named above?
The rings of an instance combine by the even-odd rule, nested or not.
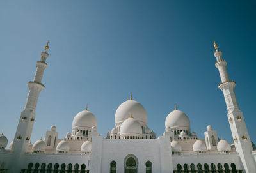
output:
[[[10,161],[8,172],[20,172],[21,161],[24,153],[28,149],[29,140],[31,137],[33,124],[35,122],[35,111],[38,96],[40,91],[44,89],[44,85],[41,83],[44,70],[47,67],[45,60],[49,56],[47,49],[49,49],[49,41],[45,46],[45,50],[41,52],[40,61],[36,62],[36,73],[33,81],[28,82],[28,98],[24,110],[20,114],[19,124],[13,139],[12,147],[12,160]],[[24,166],[24,165],[23,165]]]

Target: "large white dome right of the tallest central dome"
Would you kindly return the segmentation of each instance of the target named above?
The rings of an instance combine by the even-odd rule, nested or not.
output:
[[[173,128],[173,127],[187,127],[190,128],[190,121],[188,116],[180,111],[173,110],[165,119],[165,127]]]

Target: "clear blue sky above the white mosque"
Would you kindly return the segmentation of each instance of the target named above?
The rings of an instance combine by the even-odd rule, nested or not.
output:
[[[211,124],[231,143],[215,39],[256,142],[255,8],[255,1],[1,1],[0,130],[10,143],[50,40],[33,143],[52,124],[65,137],[86,103],[106,136],[131,91],[157,136],[177,103],[200,138]]]

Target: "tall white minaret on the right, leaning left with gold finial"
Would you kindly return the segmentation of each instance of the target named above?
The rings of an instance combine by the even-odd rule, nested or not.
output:
[[[236,146],[236,151],[241,158],[243,167],[246,173],[253,173],[256,170],[256,163],[252,156],[252,143],[244,122],[243,112],[238,107],[236,94],[234,89],[236,83],[230,81],[227,72],[227,62],[222,59],[222,52],[218,50],[218,46],[214,41],[214,56],[217,62],[215,63],[216,68],[220,72],[221,83],[218,87],[224,94],[225,102],[228,110],[228,121],[230,129]]]

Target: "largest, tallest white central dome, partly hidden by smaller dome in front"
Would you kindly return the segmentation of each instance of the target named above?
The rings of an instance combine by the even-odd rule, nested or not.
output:
[[[122,103],[118,109],[116,109],[115,114],[115,123],[122,123],[125,119],[130,117],[132,113],[132,117],[147,124],[147,112],[141,103],[137,102],[136,100],[127,100]]]

